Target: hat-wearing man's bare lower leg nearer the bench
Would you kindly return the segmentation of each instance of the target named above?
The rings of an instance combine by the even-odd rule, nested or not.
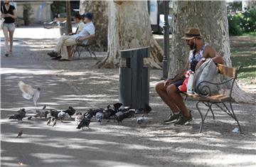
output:
[[[173,102],[176,104],[176,106],[181,109],[181,112],[183,116],[189,117],[190,113],[188,112],[188,109],[186,108],[185,103],[183,102],[183,98],[181,95],[177,92],[177,88],[175,85],[171,84],[167,87],[167,94]]]

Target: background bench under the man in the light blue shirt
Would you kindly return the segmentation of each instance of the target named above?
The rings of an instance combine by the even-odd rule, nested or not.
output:
[[[90,42],[90,41],[89,41]],[[87,53],[90,54],[90,57],[92,58],[92,55],[97,60],[97,56],[95,52],[92,50],[93,43],[83,44],[78,43],[77,45],[73,45],[71,55],[75,57],[75,55],[78,55],[78,58],[80,58],[80,55],[82,52],[87,51]]]

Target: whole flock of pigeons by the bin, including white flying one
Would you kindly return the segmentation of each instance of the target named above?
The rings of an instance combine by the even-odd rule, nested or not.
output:
[[[34,89],[31,85],[25,84],[23,81],[18,82],[18,87],[22,92],[22,96],[25,99],[32,99],[33,103],[36,106],[36,102],[39,99],[41,89]],[[9,119],[16,119],[18,122],[23,122],[23,119],[26,117],[26,109],[19,109],[14,115],[11,115]],[[56,126],[57,122],[63,122],[65,119],[72,119],[72,116],[75,115],[75,124],[77,125],[76,129],[90,129],[90,122],[93,117],[95,117],[96,122],[102,124],[103,119],[106,122],[113,120],[117,124],[122,124],[124,119],[129,119],[135,117],[135,114],[143,114],[142,117],[137,118],[137,124],[141,125],[144,123],[144,114],[149,114],[151,112],[151,107],[146,105],[144,109],[132,109],[131,107],[124,107],[122,103],[109,104],[104,108],[97,109],[88,109],[86,112],[78,112],[73,107],[68,107],[66,110],[58,109],[47,109],[46,105],[42,109],[36,110],[33,113],[35,115],[27,117],[28,120],[33,118],[46,119],[46,125]],[[18,132],[17,137],[21,137],[23,134],[22,131]]]

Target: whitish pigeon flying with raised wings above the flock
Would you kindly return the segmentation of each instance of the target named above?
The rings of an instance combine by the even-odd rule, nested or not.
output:
[[[31,87],[31,85],[27,85],[23,81],[18,82],[18,87],[20,88],[22,96],[25,99],[33,98],[33,103],[36,106],[36,102],[39,99],[41,89],[39,87],[37,89],[34,89],[33,87]]]

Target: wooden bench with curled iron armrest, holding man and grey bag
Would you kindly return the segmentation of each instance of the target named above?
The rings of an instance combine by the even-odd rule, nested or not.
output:
[[[198,94],[188,94],[186,92],[181,92],[181,93],[186,96],[186,99],[191,98],[191,99],[197,101],[196,102],[196,108],[198,109],[198,112],[199,112],[200,117],[201,117],[201,126],[200,126],[200,129],[199,129],[199,133],[201,133],[201,131],[202,131],[203,123],[206,120],[208,112],[211,112],[211,114],[213,115],[213,119],[215,119],[213,109],[212,109],[213,104],[215,104],[223,112],[227,113],[230,117],[235,119],[235,121],[238,123],[240,133],[242,133],[242,129],[241,129],[240,123],[238,121],[238,118],[235,116],[235,112],[233,111],[232,103],[235,102],[235,101],[231,97],[233,87],[234,87],[234,84],[235,84],[235,79],[238,76],[238,70],[240,68],[238,68],[238,69],[229,68],[225,65],[220,65],[220,64],[217,65],[217,68],[218,68],[218,73],[220,75],[223,75],[223,77],[225,77],[225,80],[223,80],[223,82],[220,82],[220,83],[213,83],[213,82],[203,81],[203,82],[200,82],[198,84],[198,88],[202,83],[213,84],[213,85],[224,85],[224,84],[227,84],[227,83],[231,83],[229,95],[222,95],[222,94],[210,95],[210,87],[207,87],[206,85],[203,86],[204,89],[201,88],[201,90],[204,91],[204,92],[199,92]],[[197,89],[197,90],[199,90],[199,89]],[[200,103],[202,103],[202,104],[206,105],[206,107],[208,107],[208,110],[207,110],[206,114],[204,115],[204,117],[203,117],[203,114],[201,112],[201,109],[199,109],[199,107],[198,107],[198,104],[200,104]],[[225,103],[228,103],[230,105],[230,109],[228,108],[228,105],[225,104]],[[223,106],[221,106],[221,104]]]

